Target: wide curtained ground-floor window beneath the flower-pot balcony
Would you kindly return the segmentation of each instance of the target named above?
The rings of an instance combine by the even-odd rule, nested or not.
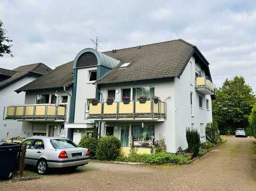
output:
[[[151,136],[155,136],[155,127],[153,125],[132,125],[132,136],[137,141],[149,141]]]

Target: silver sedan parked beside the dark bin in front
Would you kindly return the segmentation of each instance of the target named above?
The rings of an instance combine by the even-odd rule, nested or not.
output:
[[[31,137],[26,143],[25,164],[37,167],[46,174],[49,168],[77,168],[88,164],[90,151],[78,147],[72,140],[59,137]]]

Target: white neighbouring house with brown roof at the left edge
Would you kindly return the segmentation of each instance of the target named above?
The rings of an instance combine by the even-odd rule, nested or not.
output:
[[[20,66],[13,70],[0,68],[0,116],[4,116],[6,106],[24,104],[25,93],[15,90],[51,71],[43,63]],[[22,123],[13,120],[0,120],[0,140],[21,135]]]

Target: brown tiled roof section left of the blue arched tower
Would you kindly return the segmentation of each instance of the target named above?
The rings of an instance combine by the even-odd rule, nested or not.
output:
[[[73,61],[58,66],[49,73],[19,88],[16,92],[62,88],[73,83]]]

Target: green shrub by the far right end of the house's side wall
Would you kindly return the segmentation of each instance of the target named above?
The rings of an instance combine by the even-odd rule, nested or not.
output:
[[[217,144],[220,142],[218,123],[216,121],[213,121],[212,123],[208,123],[206,125],[206,139],[213,144]]]

